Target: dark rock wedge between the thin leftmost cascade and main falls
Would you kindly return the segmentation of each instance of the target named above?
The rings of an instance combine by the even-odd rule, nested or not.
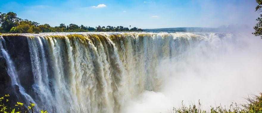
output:
[[[3,36],[6,41],[6,50],[13,60],[20,84],[30,93],[33,84],[33,73],[27,37],[25,36]]]

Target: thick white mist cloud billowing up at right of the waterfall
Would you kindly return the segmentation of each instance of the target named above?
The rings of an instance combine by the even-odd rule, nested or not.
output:
[[[185,53],[162,60],[158,75],[163,84],[158,91],[145,91],[128,101],[124,112],[167,112],[180,107],[202,103],[210,106],[229,106],[243,103],[249,94],[262,91],[262,44],[248,34],[228,34],[221,39],[213,34]]]

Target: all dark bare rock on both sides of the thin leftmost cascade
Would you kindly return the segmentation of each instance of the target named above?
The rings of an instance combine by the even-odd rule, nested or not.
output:
[[[33,93],[30,88],[33,84],[33,74],[27,37],[3,36],[3,38],[6,44],[5,50],[14,63],[21,86],[24,87],[27,93]],[[0,95],[9,94],[11,104],[15,104],[17,101],[24,102],[24,97],[19,92],[19,86],[12,86],[7,70],[4,57],[0,57]]]

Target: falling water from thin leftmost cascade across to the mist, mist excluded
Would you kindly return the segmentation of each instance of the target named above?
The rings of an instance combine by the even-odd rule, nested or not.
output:
[[[187,55],[199,43],[223,40],[232,34],[215,33],[43,33],[26,36],[33,83],[23,90],[1,37],[1,53],[8,74],[21,93],[38,105],[81,104],[93,112],[121,112],[127,99],[144,90],[158,91],[157,73],[164,59]],[[6,36],[8,38],[8,36]],[[203,48],[205,49],[205,47]],[[20,56],[23,57],[23,56]],[[29,61],[24,61],[29,62]],[[29,92],[29,93],[26,93]],[[33,100],[32,100],[33,101]]]

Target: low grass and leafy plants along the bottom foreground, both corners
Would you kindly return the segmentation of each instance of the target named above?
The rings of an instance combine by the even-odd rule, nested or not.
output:
[[[8,106],[10,102],[10,95],[4,95],[0,97],[0,112],[3,113],[93,113],[92,109],[81,106],[79,104],[77,107],[69,106],[68,108],[58,109],[56,104],[51,104],[50,106],[36,106],[34,103],[29,103],[26,107],[24,103],[17,102],[15,106]],[[201,103],[199,101],[198,105],[192,104],[185,106],[182,101],[182,106],[180,108],[172,108],[168,113],[262,113],[262,93],[259,95],[252,95],[246,98],[246,104],[232,103],[228,108],[226,106],[222,107],[212,107],[210,110],[201,109]],[[41,108],[41,109],[40,109]]]

